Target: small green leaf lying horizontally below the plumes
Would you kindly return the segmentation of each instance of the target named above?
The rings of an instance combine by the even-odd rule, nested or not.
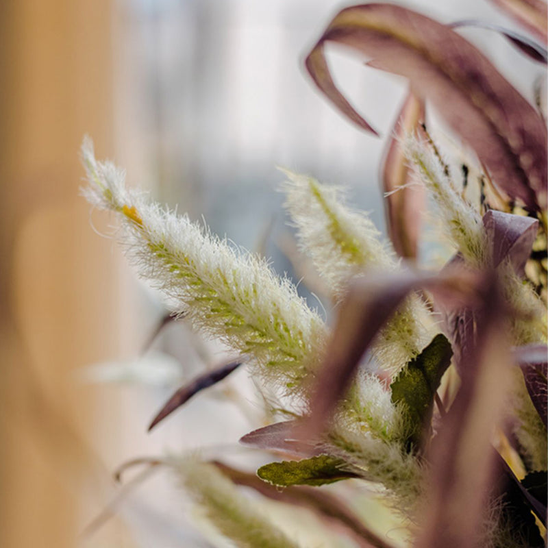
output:
[[[284,460],[261,466],[257,475],[270,484],[287,487],[290,485],[332,484],[341,479],[357,477],[356,474],[344,471],[346,463],[340,458],[319,455],[303,460]]]

